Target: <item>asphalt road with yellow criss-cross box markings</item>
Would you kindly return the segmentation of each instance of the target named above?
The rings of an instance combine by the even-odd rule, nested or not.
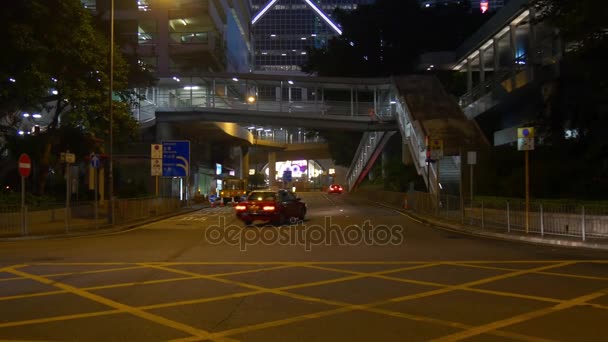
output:
[[[0,340],[608,341],[608,255],[461,235],[347,195],[0,243]]]

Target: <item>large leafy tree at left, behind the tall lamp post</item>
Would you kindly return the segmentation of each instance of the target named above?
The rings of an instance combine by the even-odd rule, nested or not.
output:
[[[19,113],[43,113],[46,120],[36,141],[38,190],[44,193],[59,152],[100,152],[107,141],[110,44],[78,0],[10,2],[0,13],[0,29],[7,33],[0,55],[2,133],[17,151],[15,144],[32,139],[15,136]],[[134,137],[137,123],[130,115],[134,98],[127,91],[128,65],[116,48],[115,56],[113,130],[120,144]]]

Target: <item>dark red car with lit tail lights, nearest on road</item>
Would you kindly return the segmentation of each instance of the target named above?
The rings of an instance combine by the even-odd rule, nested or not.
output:
[[[254,221],[272,222],[283,225],[287,220],[304,220],[306,203],[288,190],[254,190],[247,199],[237,204],[236,217],[246,225]]]

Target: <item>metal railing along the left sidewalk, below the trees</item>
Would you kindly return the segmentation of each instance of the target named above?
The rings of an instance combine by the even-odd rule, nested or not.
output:
[[[66,209],[65,204],[47,205],[44,208],[20,206],[0,207],[0,237],[56,235],[78,231],[108,228],[108,201],[98,205],[94,202],[75,202]],[[114,204],[115,224],[161,216],[179,211],[186,204],[177,198],[119,199]]]

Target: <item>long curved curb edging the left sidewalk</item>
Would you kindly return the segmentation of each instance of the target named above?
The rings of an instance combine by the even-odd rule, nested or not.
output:
[[[165,214],[165,215],[161,215],[161,216],[151,217],[148,219],[119,224],[119,225],[116,225],[113,227],[87,230],[87,231],[81,231],[81,232],[74,232],[74,233],[67,233],[67,234],[60,233],[60,234],[47,234],[47,235],[6,237],[6,238],[0,238],[0,242],[18,242],[18,241],[32,241],[32,240],[58,240],[58,239],[69,239],[69,238],[77,238],[77,237],[120,233],[120,232],[125,232],[128,230],[131,230],[133,228],[137,228],[138,226],[141,226],[144,224],[162,221],[162,220],[168,219],[173,216],[188,214],[188,213],[195,212],[195,211],[205,209],[205,208],[208,208],[208,207],[184,209],[179,212],[174,212],[174,213]]]

